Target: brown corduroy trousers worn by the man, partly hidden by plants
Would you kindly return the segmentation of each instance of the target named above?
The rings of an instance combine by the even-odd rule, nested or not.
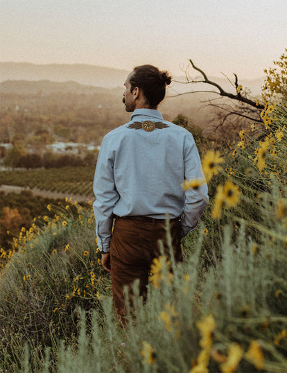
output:
[[[171,219],[169,227],[175,261],[182,261],[180,219]],[[154,258],[161,255],[159,240],[164,245],[164,252],[169,256],[164,219],[143,216],[116,217],[110,245],[110,262],[113,306],[119,320],[123,320],[126,313],[125,286],[129,288],[131,301],[132,284],[135,279],[139,279],[139,294],[145,300],[150,264]]]

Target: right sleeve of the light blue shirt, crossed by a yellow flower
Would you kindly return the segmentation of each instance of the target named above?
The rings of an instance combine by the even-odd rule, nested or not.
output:
[[[184,179],[195,180],[205,179],[202,172],[200,155],[195,145],[193,136],[189,133],[184,143]],[[208,197],[207,183],[202,184],[198,189],[185,191],[184,214],[182,217],[182,237],[195,229],[200,220],[203,210],[207,206]]]

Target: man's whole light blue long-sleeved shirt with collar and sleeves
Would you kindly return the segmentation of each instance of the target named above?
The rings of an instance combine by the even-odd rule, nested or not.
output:
[[[166,124],[146,132],[128,128],[134,122]],[[164,121],[157,110],[137,109],[130,122],[105,135],[94,176],[94,214],[98,248],[110,251],[113,214],[177,218],[182,216],[182,236],[198,225],[208,196],[207,184],[183,191],[184,179],[202,179],[200,157],[193,136]]]

